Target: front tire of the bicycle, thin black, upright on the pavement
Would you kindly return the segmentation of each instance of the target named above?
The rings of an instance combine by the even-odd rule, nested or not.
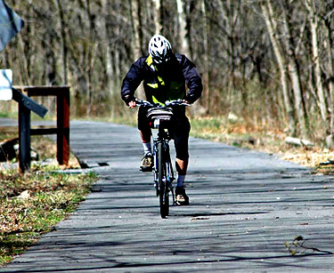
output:
[[[166,156],[162,143],[158,144],[158,183],[159,205],[161,218],[166,218],[169,213],[169,193],[166,182]]]

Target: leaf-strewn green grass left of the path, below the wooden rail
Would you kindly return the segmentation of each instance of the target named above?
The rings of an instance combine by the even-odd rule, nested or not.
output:
[[[14,130],[1,129],[0,140],[16,137]],[[55,155],[55,144],[45,137],[32,137],[31,146],[40,152],[41,159]],[[73,156],[69,164],[78,167]],[[24,252],[85,200],[96,175],[59,172],[63,168],[37,162],[30,172],[22,174],[0,167],[0,264]]]

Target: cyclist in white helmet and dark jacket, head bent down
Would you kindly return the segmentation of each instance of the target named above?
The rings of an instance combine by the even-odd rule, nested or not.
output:
[[[151,37],[149,54],[136,60],[123,79],[121,97],[130,108],[135,107],[134,92],[142,81],[146,100],[161,105],[165,105],[166,100],[178,99],[193,103],[200,98],[203,89],[200,74],[191,60],[183,54],[173,52],[167,38],[158,34]],[[143,172],[151,171],[153,165],[151,128],[146,112],[147,109],[143,107],[138,110],[138,130],[144,150],[141,165]],[[169,132],[175,142],[176,204],[189,205],[184,179],[189,161],[188,139],[191,126],[185,116],[185,107],[175,108],[174,113],[173,125]]]

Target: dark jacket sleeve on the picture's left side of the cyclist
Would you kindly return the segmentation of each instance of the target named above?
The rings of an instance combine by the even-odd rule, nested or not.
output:
[[[125,78],[121,87],[121,98],[127,103],[134,100],[134,92],[143,81],[143,58],[136,60]]]

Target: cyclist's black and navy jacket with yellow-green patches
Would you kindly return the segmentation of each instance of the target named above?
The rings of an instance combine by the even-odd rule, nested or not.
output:
[[[151,102],[184,99],[192,103],[200,98],[203,89],[195,65],[180,54],[175,54],[164,68],[155,66],[150,55],[136,60],[123,79],[122,100],[126,103],[134,100],[134,92],[142,81],[146,100]]]

